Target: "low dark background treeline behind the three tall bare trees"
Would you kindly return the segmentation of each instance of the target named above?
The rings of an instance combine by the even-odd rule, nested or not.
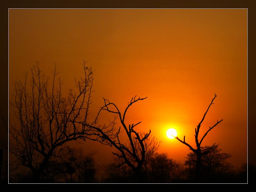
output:
[[[202,147],[206,150],[209,146]],[[202,159],[201,175],[195,178],[196,156],[187,155],[185,164],[171,159],[165,153],[154,152],[147,157],[142,168],[143,183],[247,183],[247,164],[234,168],[226,160],[230,154],[220,153],[219,145]],[[95,152],[85,154],[82,148],[66,147],[62,155],[52,158],[45,168],[39,183],[137,183],[136,174],[127,164],[120,165],[120,158],[113,156],[111,163],[97,165]],[[255,174],[255,166],[249,164]],[[103,172],[97,177],[98,172]],[[33,173],[29,169],[14,170],[11,183],[31,183]]]

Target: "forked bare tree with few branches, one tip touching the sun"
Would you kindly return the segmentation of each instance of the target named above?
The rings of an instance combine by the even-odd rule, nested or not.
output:
[[[214,127],[216,127],[220,122],[223,121],[223,119],[221,119],[220,121],[217,120],[217,123],[214,124],[212,127],[209,127],[209,129],[204,133],[204,136],[201,138],[201,140],[199,141],[198,139],[198,135],[199,135],[199,130],[200,130],[200,127],[201,127],[201,124],[203,123],[204,121],[204,118],[209,110],[209,108],[211,107],[213,103],[213,100],[217,97],[216,94],[214,94],[214,98],[212,99],[212,102],[210,103],[209,107],[207,108],[206,112],[204,113],[204,116],[202,118],[202,120],[199,122],[199,124],[197,125],[197,127],[195,128],[195,141],[196,141],[196,148],[193,148],[190,144],[188,144],[186,141],[185,141],[185,135],[184,135],[184,138],[183,140],[180,140],[177,137],[175,137],[177,140],[179,140],[181,143],[183,143],[184,145],[187,145],[189,147],[190,150],[192,150],[195,154],[196,154],[196,180],[199,180],[200,179],[200,170],[201,170],[201,158],[203,155],[206,155],[208,154],[212,148],[214,148],[215,146],[215,143],[206,151],[202,151],[201,150],[201,144],[202,144],[202,141],[204,140],[205,136],[207,135],[208,132],[210,132]]]

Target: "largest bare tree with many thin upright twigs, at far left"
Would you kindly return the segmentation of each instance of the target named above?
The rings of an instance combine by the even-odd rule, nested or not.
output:
[[[17,166],[31,170],[36,181],[52,156],[58,156],[68,141],[85,139],[89,131],[86,124],[93,77],[85,61],[83,70],[84,76],[75,79],[76,90],[70,89],[66,97],[62,94],[62,80],[57,80],[56,65],[52,79],[43,74],[36,62],[31,68],[30,82],[27,72],[24,83],[15,83],[9,152],[16,157]]]

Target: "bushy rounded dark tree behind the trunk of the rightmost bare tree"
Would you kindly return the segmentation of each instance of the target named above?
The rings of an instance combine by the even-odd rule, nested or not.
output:
[[[232,165],[226,160],[231,157],[230,154],[220,153],[220,144],[201,147],[202,153],[206,152],[206,155],[201,158],[201,175],[204,180],[220,180],[225,173],[229,171]],[[190,167],[190,174],[196,169],[196,154],[191,152],[186,157],[185,165]]]

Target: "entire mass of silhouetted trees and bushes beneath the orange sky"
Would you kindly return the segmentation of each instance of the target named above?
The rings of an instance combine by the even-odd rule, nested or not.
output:
[[[183,140],[176,137],[192,151],[187,155],[185,164],[182,164],[166,154],[157,153],[160,142],[151,135],[151,130],[141,132],[138,129],[141,121],[125,121],[128,109],[147,97],[133,97],[123,110],[103,98],[104,105],[96,117],[90,116],[93,71],[86,67],[86,63],[83,63],[84,76],[75,78],[75,88],[69,89],[68,93],[63,93],[63,82],[57,77],[56,65],[52,75],[46,76],[37,62],[31,68],[30,76],[25,74],[24,82],[15,83],[10,102],[9,146],[0,142],[1,147],[8,149],[11,159],[14,159],[9,162],[10,182],[247,182],[246,164],[234,169],[227,162],[231,155],[221,153],[219,144],[201,146],[208,132],[222,119],[217,120],[201,140],[198,138],[201,124],[217,95],[195,130],[196,148],[185,141],[185,136]],[[107,114],[112,115],[112,120],[101,122],[100,116],[106,117]],[[113,147],[113,161],[100,167],[95,163],[95,153],[85,154],[82,148],[69,147],[70,141],[86,142],[88,139]],[[251,166],[251,170],[255,168]],[[99,171],[103,171],[100,178],[96,177]]]

